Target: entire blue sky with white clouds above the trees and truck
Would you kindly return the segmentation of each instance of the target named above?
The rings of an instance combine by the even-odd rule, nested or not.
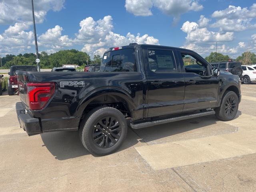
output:
[[[30,6],[30,0],[0,0],[0,54],[35,52]],[[233,58],[256,51],[252,0],[34,0],[34,7],[39,51],[48,53],[76,48],[102,54],[138,42],[207,56],[216,41],[218,52]]]

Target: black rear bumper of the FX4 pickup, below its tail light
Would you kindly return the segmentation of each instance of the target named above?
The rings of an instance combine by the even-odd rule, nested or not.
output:
[[[30,114],[26,113],[25,107],[22,102],[16,103],[16,113],[20,127],[27,132],[28,136],[42,133],[40,122],[38,118],[33,118]]]

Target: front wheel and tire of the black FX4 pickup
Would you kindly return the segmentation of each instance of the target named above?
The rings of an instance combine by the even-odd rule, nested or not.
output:
[[[230,121],[234,119],[238,111],[238,96],[233,91],[226,91],[222,96],[220,107],[215,108],[215,116],[219,120]]]

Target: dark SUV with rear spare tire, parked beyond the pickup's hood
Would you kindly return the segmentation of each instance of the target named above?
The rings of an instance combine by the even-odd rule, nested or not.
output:
[[[234,62],[234,61],[216,62],[216,63],[211,63],[211,65],[214,67],[220,68],[220,70],[222,71],[230,72],[242,78],[243,70],[242,70],[242,64],[240,62]]]

